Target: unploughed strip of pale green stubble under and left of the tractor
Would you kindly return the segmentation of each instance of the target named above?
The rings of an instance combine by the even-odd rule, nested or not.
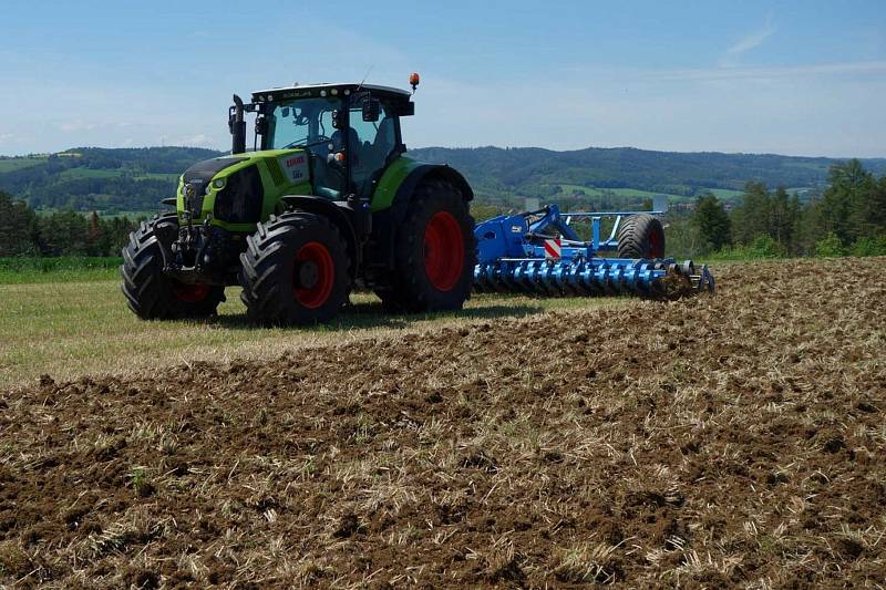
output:
[[[25,271],[27,272],[30,271]],[[277,358],[317,343],[424,331],[440,325],[519,318],[552,310],[636,304],[626,298],[529,299],[476,296],[461,312],[403,315],[384,313],[373,294],[354,293],[352,306],[331,324],[264,329],[249,324],[238,288],[226,291],[219,315],[204,321],[142,321],[126,307],[119,281],[94,280],[111,269],[74,270],[0,284],[0,386],[41,374],[74,379],[83,374],[162,372],[193,361]],[[7,278],[9,270],[6,271]],[[33,277],[33,275],[31,275]]]

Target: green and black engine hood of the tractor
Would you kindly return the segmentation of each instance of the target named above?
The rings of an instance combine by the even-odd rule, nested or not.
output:
[[[303,148],[266,149],[205,159],[182,175],[179,221],[204,221],[248,231],[275,213],[280,197],[311,194],[309,156]]]

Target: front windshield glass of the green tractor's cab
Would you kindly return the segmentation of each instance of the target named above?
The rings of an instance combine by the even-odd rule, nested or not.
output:
[[[302,99],[280,102],[266,115],[268,134],[267,149],[310,146],[312,152],[326,154],[332,132],[332,112],[340,107],[340,100]],[[317,148],[317,149],[315,149]]]

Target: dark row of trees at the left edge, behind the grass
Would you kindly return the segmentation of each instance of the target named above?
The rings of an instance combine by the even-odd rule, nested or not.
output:
[[[96,213],[38,215],[0,190],[0,257],[120,256],[138,219],[102,218]]]

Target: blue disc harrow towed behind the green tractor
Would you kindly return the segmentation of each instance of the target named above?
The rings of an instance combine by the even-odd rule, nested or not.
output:
[[[562,214],[556,205],[537,211],[499,216],[476,226],[476,292],[526,293],[540,297],[632,294],[648,299],[679,299],[713,292],[707,266],[673,258],[609,258],[618,251],[621,220],[639,213]],[[600,240],[604,217],[615,217],[611,235]],[[571,227],[590,219],[590,240]],[[636,240],[635,240],[636,241]],[[661,245],[663,249],[663,244]]]

